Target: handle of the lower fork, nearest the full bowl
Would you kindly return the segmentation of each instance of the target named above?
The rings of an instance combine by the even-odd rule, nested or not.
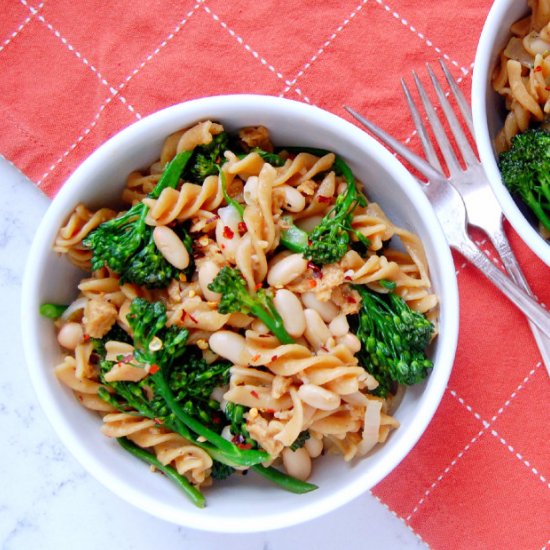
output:
[[[477,247],[468,237],[464,238],[457,250],[475,265],[516,307],[518,307],[537,327],[550,337],[550,313],[525,290],[517,286]]]

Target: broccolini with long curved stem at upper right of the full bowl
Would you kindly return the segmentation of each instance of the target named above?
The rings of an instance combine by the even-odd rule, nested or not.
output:
[[[328,153],[322,149],[312,148],[287,147],[286,149],[317,156]],[[338,175],[344,176],[347,182],[346,191],[338,195],[333,207],[311,233],[308,234],[293,223],[289,223],[287,218],[285,221],[289,227],[281,234],[282,245],[293,252],[301,252],[304,258],[318,265],[339,261],[350,248],[350,234],[354,234],[366,248],[370,245],[369,240],[351,226],[353,211],[357,206],[366,205],[366,198],[357,190],[355,177],[341,157],[336,156],[333,168]]]

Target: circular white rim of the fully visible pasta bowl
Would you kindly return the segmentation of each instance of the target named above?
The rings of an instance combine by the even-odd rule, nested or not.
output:
[[[411,195],[411,200],[414,200],[415,204],[421,207],[423,211],[431,212],[431,215],[427,216],[428,220],[426,223],[430,229],[433,246],[438,250],[437,261],[442,270],[440,277],[441,288],[438,290],[439,294],[444,295],[446,299],[444,308],[446,331],[445,334],[439,334],[438,336],[438,346],[441,346],[441,351],[439,363],[437,365],[438,368],[433,370],[428,380],[430,389],[429,399],[422,399],[419,408],[415,411],[414,425],[411,425],[408,432],[404,434],[401,445],[392,453],[391,460],[387,460],[383,465],[378,464],[373,482],[365,486],[365,483],[362,483],[365,477],[363,474],[356,478],[353,483],[349,483],[336,493],[333,492],[327,495],[319,493],[319,497],[315,502],[310,502],[307,506],[302,506],[299,510],[293,509],[290,512],[281,510],[277,514],[255,518],[254,522],[246,522],[248,525],[244,526],[244,522],[240,522],[239,525],[236,525],[227,520],[224,521],[226,518],[219,516],[216,517],[216,521],[213,521],[210,514],[203,513],[201,516],[201,511],[199,510],[197,512],[192,506],[183,506],[175,510],[172,506],[164,502],[159,502],[155,500],[154,497],[146,495],[143,492],[137,491],[128,482],[121,480],[113,471],[110,471],[109,467],[99,460],[96,455],[88,453],[81,446],[78,435],[73,434],[68,428],[64,418],[66,413],[64,413],[60,405],[56,403],[54,392],[44,390],[44,387],[47,388],[47,386],[43,384],[43,381],[52,375],[52,365],[47,365],[45,361],[42,361],[38,345],[39,315],[36,306],[39,304],[39,285],[37,282],[41,276],[40,266],[44,263],[47,255],[51,254],[51,240],[48,237],[48,231],[44,229],[51,229],[52,226],[56,228],[59,227],[59,220],[62,215],[65,215],[67,202],[72,201],[70,203],[72,206],[76,204],[74,201],[78,197],[76,191],[78,190],[79,182],[96,163],[101,163],[105,158],[108,158],[109,155],[115,154],[117,148],[133,136],[146,135],[148,130],[155,128],[159,124],[162,126],[165,121],[173,119],[174,117],[178,120],[182,120],[182,124],[185,125],[185,121],[191,118],[204,119],[205,116],[208,116],[210,111],[219,108],[220,105],[231,106],[238,103],[243,106],[265,109],[266,102],[269,103],[270,108],[284,108],[289,111],[290,114],[295,114],[300,117],[312,117],[312,119],[315,120],[320,119],[321,122],[328,125],[328,127],[336,127],[340,132],[350,134],[349,139],[359,143],[361,149],[367,154],[376,155],[378,158],[382,159],[384,168],[392,179],[410,180],[411,185],[409,186],[410,189],[408,189],[408,193]],[[126,500],[130,504],[160,519],[194,529],[223,533],[270,531],[320,517],[357,498],[388,475],[420,439],[440,404],[454,363],[459,324],[459,299],[456,272],[451,251],[427,198],[424,196],[421,189],[418,188],[416,182],[414,182],[414,179],[405,167],[386,148],[358,127],[333,113],[286,98],[258,94],[232,94],[203,97],[172,105],[124,128],[97,148],[80,164],[65,182],[39,225],[28,258],[32,258],[33,261],[27,261],[27,265],[25,266],[21,301],[24,353],[31,382],[38,401],[57,436],[88,473],[123,500]],[[428,386],[426,386],[424,392],[427,390]],[[373,474],[371,474],[371,477],[373,477]],[[297,498],[299,498],[299,496]]]

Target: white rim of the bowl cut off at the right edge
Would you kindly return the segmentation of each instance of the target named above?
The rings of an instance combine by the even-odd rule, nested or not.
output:
[[[487,98],[491,92],[491,73],[496,52],[493,46],[498,32],[502,29],[501,21],[508,13],[514,0],[495,0],[481,31],[472,75],[472,114],[474,122],[474,137],[481,159],[493,192],[497,196],[504,215],[523,242],[547,265],[550,266],[550,244],[540,235],[523,215],[510,192],[504,185],[498,169],[493,139],[489,135],[487,121]],[[525,10],[527,11],[527,3]],[[498,100],[493,92],[495,102]]]

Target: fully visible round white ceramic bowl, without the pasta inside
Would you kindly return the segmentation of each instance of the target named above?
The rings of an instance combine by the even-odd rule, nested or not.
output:
[[[390,218],[420,235],[429,259],[433,286],[441,298],[441,333],[432,350],[435,368],[409,389],[396,417],[401,427],[372,456],[346,464],[326,456],[317,462],[306,495],[287,493],[250,473],[207,489],[199,510],[168,480],[151,475],[141,461],[103,436],[100,420],[80,407],[53,375],[59,362],[51,321],[41,318],[43,302],[66,303],[82,276],[51,250],[56,232],[78,202],[92,207],[114,203],[126,175],[148,166],[164,138],[203,119],[226,129],[263,124],[276,144],[309,145],[338,152],[366,182],[368,195]],[[93,153],[53,200],[37,231],[25,273],[22,303],[26,359],[39,401],[59,437],[100,482],[129,503],[162,519],[207,531],[267,531],[329,512],[373,487],[411,450],[430,422],[445,390],[457,344],[458,292],[449,248],[426,198],[405,168],[381,145],[352,124],[303,103],[234,95],[189,101],[157,112],[126,128]]]

